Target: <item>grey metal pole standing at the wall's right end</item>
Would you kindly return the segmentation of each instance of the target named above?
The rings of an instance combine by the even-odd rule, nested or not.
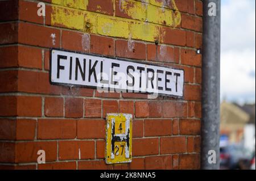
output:
[[[220,168],[220,3],[221,0],[203,1],[201,169],[204,170]],[[211,16],[208,11],[214,4],[216,16]],[[216,153],[215,163],[214,151],[210,150]],[[210,156],[213,163],[208,161]]]

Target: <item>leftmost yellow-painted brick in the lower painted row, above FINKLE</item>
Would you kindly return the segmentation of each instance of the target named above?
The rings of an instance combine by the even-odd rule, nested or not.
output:
[[[75,30],[84,29],[84,12],[52,6],[52,26],[67,27]]]

